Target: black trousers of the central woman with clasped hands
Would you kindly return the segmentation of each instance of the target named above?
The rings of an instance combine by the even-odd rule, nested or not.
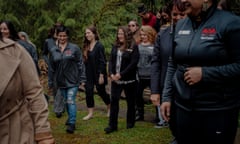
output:
[[[119,100],[123,90],[127,102],[127,126],[134,126],[136,88],[136,82],[129,84],[116,84],[115,82],[111,82],[110,127],[117,128],[118,126]]]

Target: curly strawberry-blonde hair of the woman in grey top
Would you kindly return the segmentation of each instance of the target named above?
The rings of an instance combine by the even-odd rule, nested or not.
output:
[[[143,31],[147,36],[149,41],[154,44],[157,36],[157,32],[151,26],[144,25],[140,28],[140,31]]]

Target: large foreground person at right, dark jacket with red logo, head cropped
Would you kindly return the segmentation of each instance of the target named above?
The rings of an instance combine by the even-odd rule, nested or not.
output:
[[[233,144],[240,107],[240,18],[217,0],[181,0],[161,112],[176,104],[179,144]]]

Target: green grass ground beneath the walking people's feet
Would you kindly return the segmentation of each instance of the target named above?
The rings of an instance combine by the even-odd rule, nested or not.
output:
[[[84,94],[81,93],[82,96]],[[52,132],[57,144],[168,144],[171,140],[171,133],[168,128],[156,129],[151,121],[136,122],[132,129],[126,129],[126,102],[120,101],[120,114],[118,120],[118,131],[105,134],[104,128],[108,125],[105,105],[102,100],[95,96],[94,118],[83,121],[87,114],[85,100],[77,100],[78,112],[76,131],[74,134],[66,133],[65,121],[67,114],[56,118],[52,111],[52,102],[49,105]],[[145,113],[155,115],[153,105],[145,106]]]

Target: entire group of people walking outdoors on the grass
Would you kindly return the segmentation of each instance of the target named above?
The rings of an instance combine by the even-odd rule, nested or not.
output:
[[[142,24],[131,20],[118,27],[108,65],[95,26],[85,29],[81,49],[70,42],[66,26],[55,24],[44,42],[43,58],[54,112],[58,118],[65,111],[68,115],[66,132],[76,129],[80,86],[88,108],[83,120],[94,117],[96,87],[109,117],[107,134],[118,130],[123,91],[126,128],[144,120],[143,91],[149,87],[157,126],[169,124],[172,144],[233,144],[240,108],[240,18],[217,6],[217,0],[172,0],[162,9],[163,17],[140,7]],[[0,29],[1,142],[52,144],[36,47],[11,22],[2,21]]]

